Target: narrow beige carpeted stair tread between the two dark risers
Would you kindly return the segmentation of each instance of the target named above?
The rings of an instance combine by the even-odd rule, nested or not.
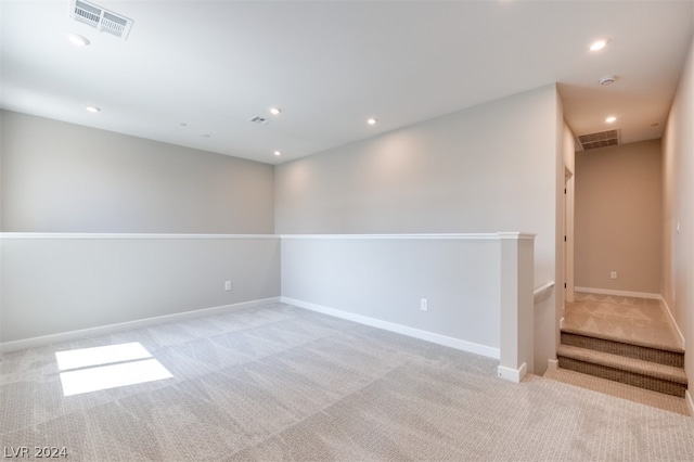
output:
[[[664,365],[657,362],[627,358],[624,356],[612,355],[608,352],[595,351],[564,344],[558,346],[556,355],[646,376],[663,378],[683,385],[686,385],[687,383],[684,369]]]

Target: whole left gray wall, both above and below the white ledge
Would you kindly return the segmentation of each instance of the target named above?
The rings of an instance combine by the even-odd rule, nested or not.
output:
[[[0,116],[0,347],[280,295],[272,166]]]

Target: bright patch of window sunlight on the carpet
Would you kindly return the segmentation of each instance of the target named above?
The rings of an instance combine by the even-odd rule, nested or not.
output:
[[[64,396],[174,376],[139,342],[57,351],[55,359]]]

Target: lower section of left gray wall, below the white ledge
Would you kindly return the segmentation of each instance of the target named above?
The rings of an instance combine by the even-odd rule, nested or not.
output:
[[[274,236],[12,236],[0,252],[0,344],[280,295]]]

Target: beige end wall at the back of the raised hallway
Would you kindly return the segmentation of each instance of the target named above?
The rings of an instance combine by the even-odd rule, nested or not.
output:
[[[660,170],[659,140],[576,154],[577,287],[660,293]]]

